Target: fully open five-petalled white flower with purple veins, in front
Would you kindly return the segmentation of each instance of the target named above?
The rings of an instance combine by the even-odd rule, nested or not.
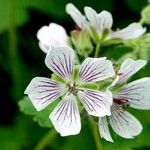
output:
[[[25,94],[28,94],[34,107],[40,111],[53,101],[62,98],[50,114],[54,127],[61,136],[78,134],[81,129],[77,99],[83,104],[89,115],[110,115],[112,105],[111,92],[100,92],[83,88],[85,84],[101,81],[115,75],[111,61],[106,58],[87,58],[79,73],[74,73],[75,54],[67,47],[51,47],[45,59],[46,66],[65,83],[49,78],[34,78]]]

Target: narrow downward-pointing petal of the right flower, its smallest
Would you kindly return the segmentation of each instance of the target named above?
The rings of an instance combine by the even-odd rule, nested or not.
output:
[[[109,127],[108,127],[107,117],[99,118],[99,132],[100,132],[101,138],[104,138],[105,140],[109,142],[113,142],[113,139],[111,137]]]

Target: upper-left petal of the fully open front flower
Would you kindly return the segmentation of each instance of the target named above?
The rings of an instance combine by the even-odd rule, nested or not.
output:
[[[66,81],[71,80],[74,63],[74,51],[67,46],[51,47],[45,59],[46,66]]]

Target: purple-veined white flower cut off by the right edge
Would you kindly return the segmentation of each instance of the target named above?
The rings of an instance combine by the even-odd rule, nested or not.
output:
[[[117,72],[115,82],[119,85],[139,71],[146,64],[145,60],[126,59]],[[101,137],[113,141],[108,128],[108,121],[113,130],[123,138],[134,138],[142,131],[140,122],[126,111],[127,107],[150,109],[150,78],[142,78],[124,85],[113,95],[111,116],[99,118]],[[107,120],[108,119],[108,120]]]

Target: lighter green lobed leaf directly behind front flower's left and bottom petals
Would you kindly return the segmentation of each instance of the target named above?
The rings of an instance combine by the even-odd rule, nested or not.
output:
[[[58,101],[54,101],[52,104],[50,104],[47,108],[45,108],[42,111],[36,111],[33,107],[30,99],[28,97],[25,97],[23,100],[19,102],[20,111],[25,113],[26,115],[33,116],[33,120],[38,122],[38,124],[41,127],[52,127],[52,123],[49,119],[49,114],[52,112],[52,110],[56,107]]]

